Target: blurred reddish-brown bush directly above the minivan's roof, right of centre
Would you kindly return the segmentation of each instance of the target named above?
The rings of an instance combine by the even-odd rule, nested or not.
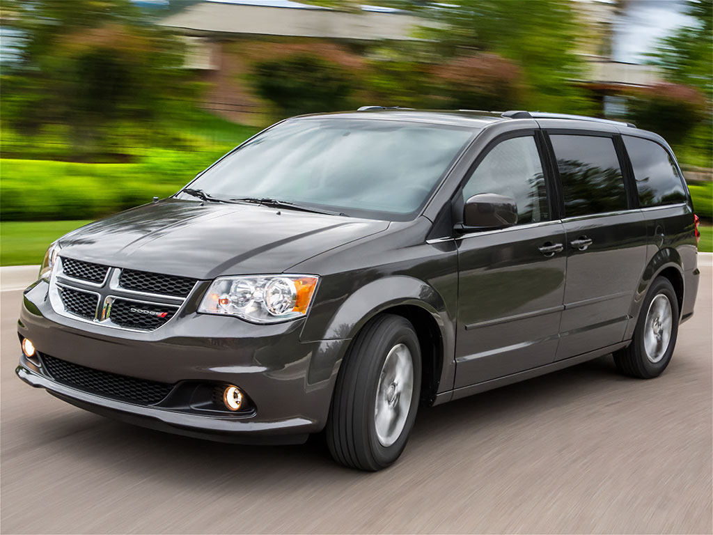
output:
[[[508,110],[523,101],[520,68],[497,54],[451,59],[434,69],[434,88],[446,108]]]

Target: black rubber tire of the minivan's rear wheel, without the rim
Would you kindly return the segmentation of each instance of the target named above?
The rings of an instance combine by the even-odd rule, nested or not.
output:
[[[661,360],[658,362],[652,362],[652,360],[647,357],[644,337],[647,313],[652,301],[658,295],[664,295],[668,299],[671,306],[671,337],[668,347]],[[614,362],[617,365],[617,369],[623,374],[630,375],[631,377],[639,377],[640,379],[652,379],[653,377],[658,377],[662,374],[671,361],[671,356],[673,355],[674,348],[676,347],[676,339],[678,337],[678,320],[679,308],[676,292],[667,278],[657,277],[654,282],[652,282],[649,292],[642,303],[642,307],[639,312],[639,319],[636,322],[636,328],[634,330],[631,344],[614,352]]]

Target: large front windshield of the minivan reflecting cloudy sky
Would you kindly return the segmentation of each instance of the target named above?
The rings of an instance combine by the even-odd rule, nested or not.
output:
[[[366,218],[412,218],[473,136],[468,128],[361,119],[286,121],[190,184],[220,199],[270,198]]]

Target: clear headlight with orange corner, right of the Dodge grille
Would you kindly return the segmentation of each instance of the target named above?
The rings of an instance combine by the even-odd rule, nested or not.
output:
[[[317,281],[314,275],[220,277],[208,288],[198,312],[256,323],[294,320],[307,314]]]

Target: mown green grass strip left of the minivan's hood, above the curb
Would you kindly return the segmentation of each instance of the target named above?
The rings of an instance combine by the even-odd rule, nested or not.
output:
[[[90,222],[3,221],[0,223],[0,265],[39,264],[50,243]]]

